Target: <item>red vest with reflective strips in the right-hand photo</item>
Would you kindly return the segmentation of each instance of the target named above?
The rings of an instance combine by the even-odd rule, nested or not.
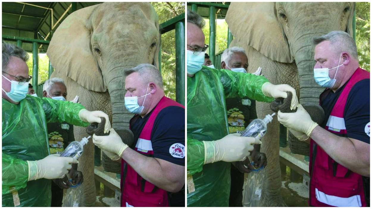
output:
[[[358,68],[342,90],[325,129],[339,136],[346,135],[344,110],[352,87],[361,80],[369,79],[369,72]],[[326,89],[320,95],[325,96]],[[321,102],[320,102],[321,103]],[[310,141],[310,206],[362,207],[367,206],[362,176],[334,161],[312,139]]]

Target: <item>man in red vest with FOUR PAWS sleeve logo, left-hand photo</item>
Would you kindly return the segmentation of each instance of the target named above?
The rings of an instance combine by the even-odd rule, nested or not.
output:
[[[129,122],[135,148],[128,148],[114,129],[108,136],[93,135],[106,155],[121,159],[121,206],[184,207],[185,107],[164,96],[153,65],[140,64],[125,76],[125,107],[135,113]]]

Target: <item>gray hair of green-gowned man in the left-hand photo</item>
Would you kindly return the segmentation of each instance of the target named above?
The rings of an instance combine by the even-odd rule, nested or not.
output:
[[[23,61],[27,62],[29,59],[29,55],[25,50],[22,48],[19,48],[18,46],[15,46],[13,44],[8,44],[3,41],[3,70],[7,71],[8,64],[11,57],[19,57]]]

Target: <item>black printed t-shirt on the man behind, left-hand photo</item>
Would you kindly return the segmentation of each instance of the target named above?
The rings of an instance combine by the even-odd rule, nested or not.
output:
[[[70,123],[48,123],[47,128],[50,154],[62,154],[75,141],[74,126]]]

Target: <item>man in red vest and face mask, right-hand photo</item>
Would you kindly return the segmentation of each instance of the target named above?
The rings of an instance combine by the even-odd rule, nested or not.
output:
[[[298,105],[278,121],[300,140],[310,137],[310,206],[369,206],[369,72],[361,69],[356,44],[346,32],[314,38],[314,79],[323,124]]]

